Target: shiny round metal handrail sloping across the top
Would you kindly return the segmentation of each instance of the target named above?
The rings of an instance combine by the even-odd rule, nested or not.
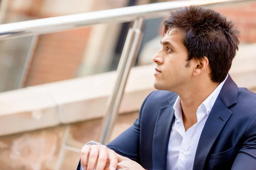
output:
[[[0,40],[48,34],[100,23],[124,23],[139,17],[163,17],[170,10],[189,5],[223,6],[250,1],[254,0],[179,0],[9,23],[0,26]]]

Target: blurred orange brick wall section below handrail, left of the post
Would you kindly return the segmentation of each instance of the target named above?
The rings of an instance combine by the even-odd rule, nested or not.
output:
[[[76,77],[91,28],[41,35],[25,86]]]

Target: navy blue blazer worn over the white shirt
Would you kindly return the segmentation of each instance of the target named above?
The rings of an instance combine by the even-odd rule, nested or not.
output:
[[[145,169],[165,170],[176,99],[170,91],[152,92],[134,124],[107,146]],[[228,76],[201,133],[193,170],[256,170],[255,117],[256,94]]]

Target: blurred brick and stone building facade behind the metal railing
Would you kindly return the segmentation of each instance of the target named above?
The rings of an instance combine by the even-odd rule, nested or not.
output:
[[[164,0],[7,0],[5,23],[55,17]],[[242,43],[256,42],[256,5],[216,8],[233,20]],[[164,18],[145,21],[137,64],[151,63],[160,48]],[[40,85],[115,70],[131,23],[87,28],[1,41],[0,91]],[[34,39],[33,39],[34,38]],[[151,45],[148,45],[151,44]],[[145,45],[145,48],[143,46]],[[28,51],[30,53],[28,54]],[[143,52],[148,51],[148,52]],[[146,56],[145,56],[146,55]],[[145,57],[144,57],[145,56]],[[24,63],[29,61],[27,65]]]

